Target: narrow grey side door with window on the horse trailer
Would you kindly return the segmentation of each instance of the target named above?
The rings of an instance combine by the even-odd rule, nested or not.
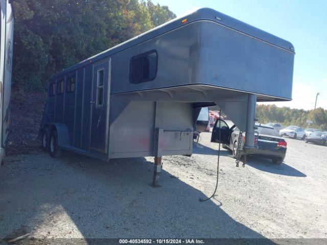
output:
[[[93,65],[90,151],[107,153],[111,58]]]

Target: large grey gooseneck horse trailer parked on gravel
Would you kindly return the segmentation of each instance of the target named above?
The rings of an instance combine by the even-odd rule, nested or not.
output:
[[[108,161],[191,155],[202,107],[217,105],[253,148],[256,102],[290,101],[293,45],[202,8],[51,77],[42,146]],[[283,89],[279,89],[283,87]]]

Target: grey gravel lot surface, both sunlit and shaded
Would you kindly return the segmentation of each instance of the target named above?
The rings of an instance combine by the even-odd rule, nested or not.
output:
[[[153,158],[109,163],[66,153],[10,156],[0,173],[0,239],[37,238],[327,238],[327,147],[286,139],[282,165],[250,158],[235,166],[202,133],[190,157],[163,158],[161,187]]]

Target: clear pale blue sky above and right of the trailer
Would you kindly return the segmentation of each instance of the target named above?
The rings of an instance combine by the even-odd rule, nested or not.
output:
[[[295,48],[291,102],[278,107],[327,109],[327,1],[326,0],[152,0],[177,16],[208,7],[290,41]],[[283,88],[281,88],[283,89]],[[267,104],[267,103],[261,103]]]

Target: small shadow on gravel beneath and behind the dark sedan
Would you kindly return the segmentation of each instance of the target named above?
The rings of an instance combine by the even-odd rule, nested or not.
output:
[[[273,164],[272,161],[267,158],[250,157],[248,158],[246,164],[256,169],[259,169],[261,171],[265,171],[276,175],[307,177],[307,175],[303,174],[301,171],[295,169],[294,167],[287,165],[285,162],[283,162],[281,165],[276,165]]]

